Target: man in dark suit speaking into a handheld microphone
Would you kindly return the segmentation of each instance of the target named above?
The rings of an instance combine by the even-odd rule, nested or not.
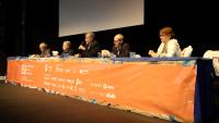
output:
[[[96,40],[94,40],[95,34],[94,33],[87,33],[85,34],[85,41],[79,46],[79,57],[82,58],[93,58],[97,57],[97,52],[100,52],[100,46]]]

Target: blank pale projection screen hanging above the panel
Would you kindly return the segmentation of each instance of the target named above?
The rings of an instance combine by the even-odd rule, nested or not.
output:
[[[59,37],[143,24],[143,0],[59,0]]]

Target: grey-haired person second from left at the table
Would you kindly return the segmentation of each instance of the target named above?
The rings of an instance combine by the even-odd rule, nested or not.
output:
[[[64,41],[62,44],[61,58],[67,58],[74,54],[74,51],[71,49],[71,42],[69,40]]]

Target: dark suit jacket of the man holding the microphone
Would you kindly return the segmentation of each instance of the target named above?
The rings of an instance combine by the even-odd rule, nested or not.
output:
[[[85,50],[82,51],[82,58],[93,58],[97,57],[97,52],[100,52],[100,45],[97,41],[93,41],[90,45],[85,46]]]

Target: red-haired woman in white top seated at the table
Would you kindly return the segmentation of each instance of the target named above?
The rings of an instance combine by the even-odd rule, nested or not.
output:
[[[173,38],[174,33],[171,27],[163,27],[160,29],[161,45],[158,51],[149,50],[148,54],[157,57],[181,57],[181,47],[176,39]]]

